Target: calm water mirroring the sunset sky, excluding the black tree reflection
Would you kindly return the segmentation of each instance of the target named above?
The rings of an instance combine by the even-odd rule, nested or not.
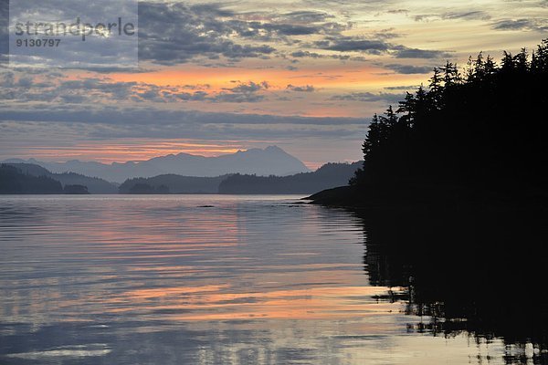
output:
[[[374,273],[364,221],[299,198],[0,197],[0,363],[538,357],[526,342],[429,330],[410,289]]]

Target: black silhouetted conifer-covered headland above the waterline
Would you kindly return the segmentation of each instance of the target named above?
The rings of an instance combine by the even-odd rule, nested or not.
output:
[[[462,72],[450,62],[435,68],[427,88],[374,115],[351,185],[545,195],[546,85],[548,39],[531,56],[504,52],[497,64],[479,53]]]

